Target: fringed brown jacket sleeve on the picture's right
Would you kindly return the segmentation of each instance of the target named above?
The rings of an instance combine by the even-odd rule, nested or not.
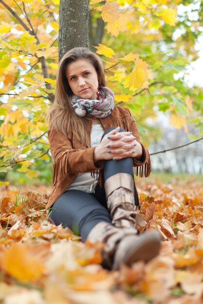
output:
[[[151,172],[150,155],[148,149],[140,142],[140,134],[137,128],[137,124],[130,111],[129,114],[132,118],[130,124],[131,132],[136,137],[136,140],[141,144],[143,151],[142,156],[139,160],[136,159],[136,157],[133,158],[133,167],[135,167],[133,171],[137,176],[139,175],[140,177],[148,177]]]

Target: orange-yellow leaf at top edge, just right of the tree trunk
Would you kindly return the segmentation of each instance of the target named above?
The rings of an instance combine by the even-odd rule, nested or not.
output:
[[[101,10],[101,17],[104,22],[115,23],[119,18],[118,8],[119,4],[106,2]]]

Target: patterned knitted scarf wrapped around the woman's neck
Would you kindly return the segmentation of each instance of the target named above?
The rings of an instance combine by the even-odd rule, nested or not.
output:
[[[74,95],[71,99],[74,111],[78,116],[103,118],[111,114],[114,108],[114,93],[106,86],[99,87],[98,100],[83,99]]]

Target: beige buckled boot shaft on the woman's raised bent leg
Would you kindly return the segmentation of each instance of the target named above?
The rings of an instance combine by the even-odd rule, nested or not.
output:
[[[104,187],[112,224],[136,229],[133,177],[128,173],[114,174],[105,181]]]

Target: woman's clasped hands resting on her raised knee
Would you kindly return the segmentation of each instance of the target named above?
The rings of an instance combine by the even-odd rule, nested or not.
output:
[[[94,161],[120,160],[126,157],[137,157],[142,155],[142,146],[136,141],[131,132],[118,132],[120,127],[105,135],[101,143],[94,150]]]

